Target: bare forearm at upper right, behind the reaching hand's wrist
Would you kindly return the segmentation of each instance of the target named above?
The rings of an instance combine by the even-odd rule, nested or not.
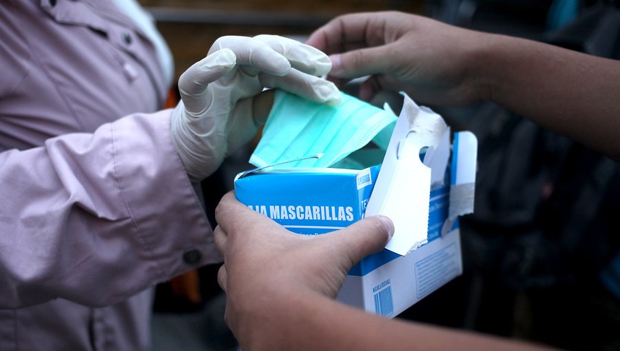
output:
[[[473,56],[492,100],[620,160],[620,63],[508,36],[486,35]]]

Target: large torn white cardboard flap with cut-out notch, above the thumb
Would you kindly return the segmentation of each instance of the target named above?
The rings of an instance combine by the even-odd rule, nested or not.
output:
[[[385,246],[394,253],[406,255],[427,242],[431,169],[420,161],[420,149],[444,149],[440,142],[446,140],[447,129],[441,116],[418,107],[404,95],[400,117],[366,208],[367,216],[386,215],[394,223],[394,235]]]

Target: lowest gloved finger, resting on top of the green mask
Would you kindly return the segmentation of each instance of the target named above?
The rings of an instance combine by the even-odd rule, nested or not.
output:
[[[280,88],[316,103],[338,106],[342,100],[338,87],[333,83],[298,70],[291,70],[289,74],[282,77],[260,74],[259,78],[260,83],[265,87]]]

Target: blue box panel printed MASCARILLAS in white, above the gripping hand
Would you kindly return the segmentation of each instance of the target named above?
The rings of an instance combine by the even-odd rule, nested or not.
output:
[[[322,234],[362,219],[379,169],[253,173],[235,181],[235,192],[240,202],[290,231]]]

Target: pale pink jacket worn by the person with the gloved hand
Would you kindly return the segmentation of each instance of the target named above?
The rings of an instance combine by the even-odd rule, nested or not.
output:
[[[166,91],[110,1],[0,1],[0,350],[146,349],[148,288],[220,260]]]

